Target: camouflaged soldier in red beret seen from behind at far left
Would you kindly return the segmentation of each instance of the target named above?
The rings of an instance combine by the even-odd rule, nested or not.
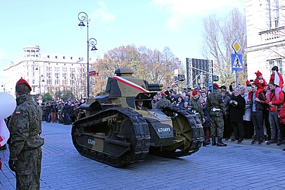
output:
[[[32,99],[31,90],[30,84],[23,79],[16,83],[17,107],[8,124],[8,165],[15,172],[17,189],[39,189],[41,175],[42,110]]]

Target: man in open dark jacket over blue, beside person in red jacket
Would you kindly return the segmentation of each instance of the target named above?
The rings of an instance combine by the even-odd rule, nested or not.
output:
[[[253,139],[252,144],[255,144],[255,141],[258,141],[258,144],[262,144],[264,138],[263,110],[266,105],[265,95],[260,92],[258,97],[256,97],[255,92],[257,89],[258,85],[253,83],[251,85],[251,91],[248,93],[248,101],[251,101],[251,119],[255,129],[255,138]]]

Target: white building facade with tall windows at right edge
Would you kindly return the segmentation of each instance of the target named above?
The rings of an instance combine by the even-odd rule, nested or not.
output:
[[[283,0],[246,0],[248,80],[254,80],[259,70],[269,82],[274,65],[284,77],[284,6]]]

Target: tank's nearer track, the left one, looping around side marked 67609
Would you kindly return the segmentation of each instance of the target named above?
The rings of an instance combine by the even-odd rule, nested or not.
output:
[[[101,120],[101,118],[106,118],[110,115],[114,115],[117,113],[124,115],[125,118],[129,118],[129,120],[131,120],[132,122],[132,125],[134,126],[134,133],[137,139],[134,151],[129,151],[120,158],[114,158],[112,156],[108,156],[105,153],[94,151],[77,144],[77,141],[75,139],[76,138],[75,133],[76,130],[80,127],[80,125],[87,122],[94,122],[96,120]],[[113,167],[124,167],[132,163],[137,163],[139,161],[142,161],[148,154],[148,148],[150,146],[150,141],[151,141],[148,124],[146,123],[146,120],[142,117],[141,114],[135,112],[130,108],[109,108],[107,110],[102,110],[99,113],[91,115],[87,118],[82,118],[80,120],[77,120],[72,125],[71,134],[72,134],[72,142],[77,151],[80,154],[82,154],[82,156],[86,156],[93,160],[97,160],[101,163],[106,163]]]

